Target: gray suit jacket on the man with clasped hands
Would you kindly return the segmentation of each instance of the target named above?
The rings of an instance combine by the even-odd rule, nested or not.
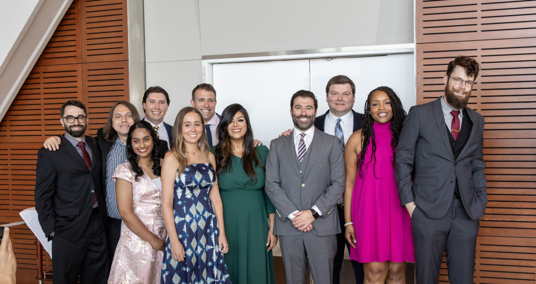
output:
[[[292,225],[288,215],[296,210],[310,209],[315,204],[322,216],[312,222],[312,233],[317,236],[340,233],[337,210],[333,210],[346,182],[339,141],[315,128],[307,151],[310,151],[309,161],[305,172],[300,173],[294,157],[293,135],[281,136],[270,144],[265,190],[278,215],[274,222],[275,235],[301,235],[303,232]]]

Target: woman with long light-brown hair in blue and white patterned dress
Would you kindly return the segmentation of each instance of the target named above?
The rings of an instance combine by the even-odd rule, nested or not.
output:
[[[162,216],[168,232],[161,283],[230,284],[229,248],[215,159],[201,113],[178,112],[172,149],[162,165]]]

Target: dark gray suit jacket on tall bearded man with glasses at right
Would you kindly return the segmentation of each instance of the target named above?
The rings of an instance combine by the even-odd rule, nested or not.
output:
[[[442,218],[449,210],[458,179],[461,201],[476,220],[484,216],[488,203],[482,153],[484,118],[466,108],[473,128],[455,160],[441,99],[413,106],[404,120],[394,167],[400,203],[414,201],[428,218]]]

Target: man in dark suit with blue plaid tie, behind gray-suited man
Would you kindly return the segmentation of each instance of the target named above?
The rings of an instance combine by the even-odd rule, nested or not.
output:
[[[352,108],[355,102],[354,82],[345,75],[337,75],[327,81],[326,102],[329,110],[321,116],[315,118],[315,127],[322,132],[337,136],[341,149],[344,147],[352,133],[361,129],[361,118],[363,114],[354,111]],[[291,129],[281,135],[289,135]],[[343,197],[337,202],[339,211],[339,224],[341,233],[337,234],[337,254],[333,260],[333,284],[339,284],[340,270],[343,267],[344,247],[350,250],[350,244],[344,237],[344,204]],[[354,268],[355,282],[362,284],[364,280],[363,264],[352,260]]]

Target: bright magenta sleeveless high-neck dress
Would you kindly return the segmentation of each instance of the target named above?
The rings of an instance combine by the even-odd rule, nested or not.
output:
[[[352,222],[356,248],[350,247],[350,258],[360,263],[414,262],[415,248],[411,218],[400,206],[394,179],[391,147],[391,122],[374,122],[375,158],[368,145],[363,162],[363,177],[355,176],[352,194]]]

